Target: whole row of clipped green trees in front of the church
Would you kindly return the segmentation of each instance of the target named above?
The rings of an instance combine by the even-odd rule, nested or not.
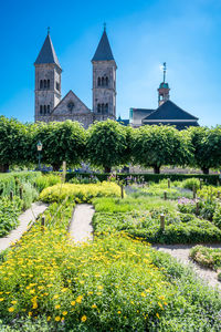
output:
[[[77,166],[90,163],[109,173],[128,163],[152,167],[192,166],[204,174],[221,165],[221,127],[192,127],[182,132],[172,126],[125,127],[107,120],[85,131],[77,122],[21,124],[0,116],[0,170],[9,166],[38,163],[41,141],[42,162],[59,170],[62,162]]]

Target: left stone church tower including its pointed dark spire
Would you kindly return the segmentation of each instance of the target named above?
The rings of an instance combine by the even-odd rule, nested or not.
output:
[[[50,33],[34,62],[35,66],[35,112],[36,121],[48,122],[53,108],[61,101],[62,69],[54,51]]]

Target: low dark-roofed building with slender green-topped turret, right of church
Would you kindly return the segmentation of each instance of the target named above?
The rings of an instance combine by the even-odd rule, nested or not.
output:
[[[183,111],[169,100],[169,84],[166,83],[166,63],[164,63],[164,81],[158,89],[158,108],[130,108],[129,124],[133,127],[143,125],[175,125],[178,129],[199,126],[198,117]]]

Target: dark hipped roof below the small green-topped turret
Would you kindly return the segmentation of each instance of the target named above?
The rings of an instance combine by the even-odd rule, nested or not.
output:
[[[171,101],[165,102],[160,105],[155,112],[150,113],[145,121],[154,121],[154,120],[189,120],[189,121],[197,121],[198,117],[191,115],[190,113],[183,111],[182,108],[178,107]]]

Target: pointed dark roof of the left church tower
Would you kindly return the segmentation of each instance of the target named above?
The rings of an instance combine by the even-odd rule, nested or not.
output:
[[[45,38],[44,44],[43,44],[39,55],[36,58],[36,61],[34,62],[34,64],[43,64],[43,63],[55,63],[61,69],[59,59],[54,51],[54,46],[52,44],[52,40],[51,40],[51,37],[49,33]]]

